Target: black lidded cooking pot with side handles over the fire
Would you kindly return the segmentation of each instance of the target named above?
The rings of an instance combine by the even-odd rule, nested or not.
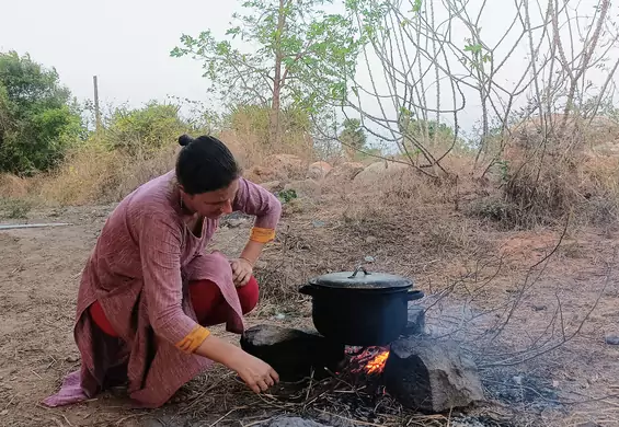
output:
[[[359,274],[363,272],[363,274]],[[319,276],[299,292],[312,297],[313,325],[330,341],[381,346],[397,339],[408,322],[409,301],[424,297],[404,277],[355,272]]]

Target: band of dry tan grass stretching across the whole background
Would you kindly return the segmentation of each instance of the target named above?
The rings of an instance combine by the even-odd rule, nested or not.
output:
[[[264,117],[253,117],[250,113],[237,114],[230,127],[219,135],[250,178],[255,177],[253,166],[268,162],[274,153],[294,154],[303,165],[318,160],[313,141],[302,128],[293,131],[284,126],[283,141],[275,147],[268,141]],[[490,181],[472,178],[473,155],[454,152],[442,161],[451,174],[448,178],[428,178],[402,163],[389,163],[388,173],[379,171],[369,181],[326,180],[321,183],[320,193],[328,196],[326,203],[334,204],[352,192],[356,198],[399,209],[450,205],[455,210],[492,219],[503,229],[554,226],[569,214],[583,224],[611,227],[619,218],[619,157],[612,150],[598,150],[608,146],[611,134],[594,130],[584,128],[555,145],[541,145],[535,139],[540,136],[535,132],[519,135],[505,152],[504,171]],[[176,152],[173,141],[148,155],[128,155],[92,140],[70,153],[51,174],[32,178],[0,176],[0,191],[8,199],[44,205],[118,201],[140,184],[173,169]],[[380,164],[381,161],[369,159],[368,162]],[[300,204],[290,204],[287,212],[298,214],[303,209],[296,205]],[[438,240],[444,234],[446,242],[452,242],[454,232],[460,233],[446,226],[437,228],[435,234]]]

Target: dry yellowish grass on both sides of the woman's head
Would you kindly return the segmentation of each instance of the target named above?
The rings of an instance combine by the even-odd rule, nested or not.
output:
[[[219,138],[230,148],[242,168],[261,164],[268,155],[287,153],[299,157],[303,164],[316,160],[311,139],[289,135],[279,147],[268,146],[252,136],[251,128],[226,130]],[[22,178],[0,175],[3,198],[31,199],[50,206],[81,206],[121,200],[149,180],[174,168],[179,146],[175,141],[148,153],[110,150],[93,138],[70,152],[54,172]]]

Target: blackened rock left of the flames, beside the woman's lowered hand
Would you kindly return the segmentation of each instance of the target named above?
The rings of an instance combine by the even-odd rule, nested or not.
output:
[[[271,365],[283,381],[309,377],[312,368],[314,378],[321,378],[324,368],[336,371],[345,358],[343,345],[332,344],[317,332],[276,325],[250,327],[241,337],[241,348]]]

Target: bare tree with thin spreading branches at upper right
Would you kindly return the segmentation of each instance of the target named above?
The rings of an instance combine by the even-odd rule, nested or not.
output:
[[[541,136],[537,155],[559,134],[558,113],[565,128],[569,115],[588,103],[591,119],[595,105],[615,90],[619,62],[606,67],[619,35],[610,1],[589,2],[591,16],[575,0],[351,2],[367,42],[362,53],[367,77],[351,82],[344,111],[433,176],[446,172],[440,161],[457,145],[474,147],[475,164],[486,173],[518,125],[530,127],[531,116]],[[497,8],[504,28],[482,32],[484,22],[496,20]],[[463,141],[459,124],[471,109],[479,111],[480,132]],[[440,123],[452,126],[454,135],[450,145],[437,147],[429,126]]]

